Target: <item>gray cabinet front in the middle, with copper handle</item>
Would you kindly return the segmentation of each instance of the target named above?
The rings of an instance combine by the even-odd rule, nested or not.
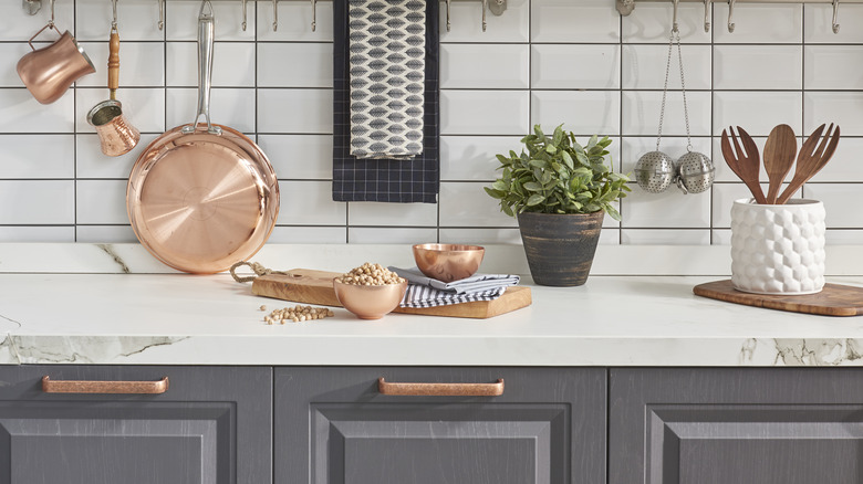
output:
[[[493,382],[500,397],[381,394]],[[277,484],[604,484],[604,369],[277,368]]]

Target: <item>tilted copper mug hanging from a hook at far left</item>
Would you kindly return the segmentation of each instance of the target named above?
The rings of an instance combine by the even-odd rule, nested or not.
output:
[[[53,29],[53,23],[43,27],[30,39],[29,52],[18,61],[18,76],[24,83],[30,94],[42,104],[51,104],[69,91],[80,77],[96,72],[84,49],[79,45],[69,31],[63,33],[53,44],[37,50],[35,39],[45,29]]]

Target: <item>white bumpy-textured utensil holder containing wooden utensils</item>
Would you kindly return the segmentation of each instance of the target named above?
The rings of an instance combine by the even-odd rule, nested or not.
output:
[[[731,208],[731,284],[756,294],[814,294],[824,287],[824,204],[736,200]]]

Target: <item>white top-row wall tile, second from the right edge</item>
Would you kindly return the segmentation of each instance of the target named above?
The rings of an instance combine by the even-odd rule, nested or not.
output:
[[[728,4],[714,3],[716,43],[800,43],[803,41],[801,3],[736,3],[735,31],[728,32]]]

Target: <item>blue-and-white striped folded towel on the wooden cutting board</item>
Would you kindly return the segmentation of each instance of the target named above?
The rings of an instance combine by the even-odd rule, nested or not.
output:
[[[427,277],[419,269],[387,267],[407,280],[407,292],[401,307],[435,307],[450,304],[493,301],[500,297],[507,287],[517,285],[518,275],[475,274],[459,281],[445,283]]]

